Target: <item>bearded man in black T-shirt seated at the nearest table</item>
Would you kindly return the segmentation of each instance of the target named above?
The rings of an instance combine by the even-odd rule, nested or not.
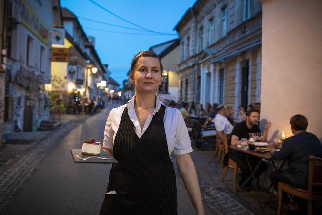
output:
[[[258,117],[259,117],[259,113],[257,110],[252,109],[247,111],[246,120],[235,125],[233,131],[231,132],[231,145],[240,145],[241,138],[249,139],[249,133],[261,132],[260,128],[257,125]],[[271,128],[271,126],[272,126],[271,123],[267,122],[265,126],[265,130],[262,135],[263,142],[267,140],[268,130],[269,128]],[[248,156],[248,161],[250,163],[250,166],[252,170],[254,170],[256,165],[260,161],[260,158],[250,154],[248,154],[247,156]],[[249,169],[248,163],[246,161],[246,154],[241,151],[230,150],[229,158],[235,161],[238,164],[238,166],[241,168],[241,178],[239,179],[239,182],[238,182],[239,186],[241,187],[241,185],[251,175],[251,170]],[[267,164],[264,162],[261,162],[260,167],[255,172],[255,178],[258,178],[266,170],[267,170]],[[244,188],[248,190],[250,189],[250,185],[251,185],[251,180],[247,182]]]

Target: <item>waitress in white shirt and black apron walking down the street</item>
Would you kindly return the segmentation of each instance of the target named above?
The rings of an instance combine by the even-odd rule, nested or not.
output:
[[[204,215],[182,115],[156,96],[162,76],[154,52],[141,51],[133,58],[130,80],[135,95],[111,110],[105,126],[102,150],[119,163],[112,164],[100,215],[177,215],[172,151],[196,214]]]

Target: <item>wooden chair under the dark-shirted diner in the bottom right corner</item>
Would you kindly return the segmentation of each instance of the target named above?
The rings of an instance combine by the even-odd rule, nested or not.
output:
[[[322,200],[322,191],[313,191],[313,187],[322,187],[322,158],[310,156],[308,174],[309,178],[307,190],[294,188],[287,183],[279,182],[279,203],[277,212],[278,215],[281,214],[283,192],[287,192],[289,194],[296,195],[300,198],[307,199],[307,214],[312,215],[312,200]]]

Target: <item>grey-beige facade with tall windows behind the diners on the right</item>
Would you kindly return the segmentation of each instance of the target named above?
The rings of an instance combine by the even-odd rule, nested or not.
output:
[[[197,0],[174,29],[180,38],[179,100],[260,102],[262,3]]]

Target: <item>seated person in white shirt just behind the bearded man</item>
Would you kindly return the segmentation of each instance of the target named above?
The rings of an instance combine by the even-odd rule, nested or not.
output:
[[[213,122],[217,131],[216,137],[223,141],[223,132],[231,133],[234,126],[227,119],[227,107],[225,105],[219,105],[217,107],[217,114]]]

